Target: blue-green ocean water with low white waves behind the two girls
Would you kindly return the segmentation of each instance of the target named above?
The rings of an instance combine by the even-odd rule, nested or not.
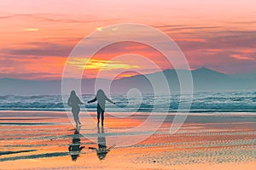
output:
[[[189,102],[179,94],[108,97],[116,102],[116,105],[106,105],[108,112],[256,112],[256,91],[195,92],[190,109],[185,110],[177,110],[180,104]],[[94,95],[83,95],[81,100],[86,103],[93,98]],[[71,108],[65,106],[61,95],[0,96],[0,111],[70,111]],[[96,111],[96,103],[81,105],[81,111]]]

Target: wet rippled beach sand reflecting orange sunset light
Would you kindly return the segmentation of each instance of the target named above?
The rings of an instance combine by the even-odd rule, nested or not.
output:
[[[102,127],[98,128],[96,122],[87,123],[88,117],[83,117],[83,113],[81,116],[79,134],[65,112],[0,111],[0,169],[228,170],[256,167],[256,115],[253,113],[191,113],[172,135],[169,130],[173,114],[170,114],[151,136],[127,146],[113,145],[110,140],[113,135],[128,134],[110,132],[139,126],[147,114],[118,118],[107,113],[104,136],[107,148],[111,148],[102,160],[96,150],[89,149],[98,148],[96,139]],[[91,116],[96,115],[91,113]],[[145,129],[148,131],[150,129]],[[137,139],[148,134],[145,132],[129,133],[129,138]],[[84,149],[68,150],[76,144]]]

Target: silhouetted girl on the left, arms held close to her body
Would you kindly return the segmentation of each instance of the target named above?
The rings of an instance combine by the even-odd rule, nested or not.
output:
[[[72,113],[73,113],[73,119],[76,122],[76,125],[78,126],[78,124],[81,124],[81,122],[79,121],[79,112],[80,112],[80,106],[79,105],[83,105],[84,103],[82,103],[79,99],[79,97],[77,96],[77,94],[75,93],[75,91],[72,91],[70,93],[70,97],[67,100],[67,105],[72,107]]]

